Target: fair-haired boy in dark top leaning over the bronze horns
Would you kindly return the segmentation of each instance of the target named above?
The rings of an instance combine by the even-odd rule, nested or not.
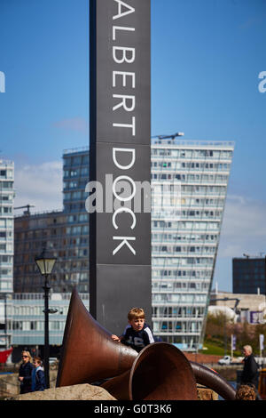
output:
[[[145,311],[141,308],[132,308],[128,314],[129,326],[126,326],[121,337],[112,335],[113,341],[129,345],[138,353],[148,344],[154,342],[153,333],[145,323]]]

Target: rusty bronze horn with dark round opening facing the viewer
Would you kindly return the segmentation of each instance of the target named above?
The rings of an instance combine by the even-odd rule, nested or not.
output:
[[[167,342],[146,346],[128,372],[102,387],[120,400],[197,400],[190,362]]]

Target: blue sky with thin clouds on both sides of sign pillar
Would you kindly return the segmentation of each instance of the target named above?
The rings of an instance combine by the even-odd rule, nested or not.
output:
[[[231,258],[266,251],[266,2],[151,3],[152,134],[236,142],[214,278],[231,291]],[[0,17],[0,156],[16,205],[60,208],[62,151],[89,144],[89,0],[1,0]]]

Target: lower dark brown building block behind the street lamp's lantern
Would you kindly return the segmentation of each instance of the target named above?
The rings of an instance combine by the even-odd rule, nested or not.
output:
[[[35,256],[42,253],[44,247],[58,259],[49,278],[52,292],[69,291],[71,260],[67,260],[66,220],[65,213],[60,211],[15,217],[15,293],[42,292],[43,277],[35,264]]]

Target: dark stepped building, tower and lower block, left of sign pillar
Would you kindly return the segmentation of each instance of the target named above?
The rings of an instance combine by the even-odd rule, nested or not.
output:
[[[23,214],[15,218],[14,292],[39,293],[43,278],[35,255],[46,247],[57,262],[50,277],[51,292],[89,292],[89,214],[85,210],[89,150],[63,154],[63,211]]]

